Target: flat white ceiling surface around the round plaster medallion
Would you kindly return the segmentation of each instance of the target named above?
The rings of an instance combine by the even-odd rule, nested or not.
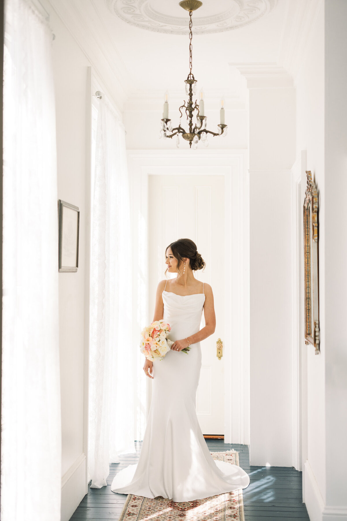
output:
[[[73,0],[83,2],[83,0]],[[130,83],[138,90],[184,89],[189,72],[189,38],[134,27],[111,14],[103,0],[89,0],[102,18],[110,39],[118,49]],[[171,0],[172,13],[178,2]],[[177,4],[177,5],[176,5]],[[216,0],[204,0],[209,6]],[[178,6],[179,8],[179,6]],[[183,16],[189,15],[182,8]],[[285,20],[286,0],[279,0],[273,11],[252,24],[216,34],[194,35],[193,68],[195,78],[205,90],[230,88],[228,63],[276,61]],[[218,12],[218,11],[217,11]],[[193,24],[194,15],[193,13]]]

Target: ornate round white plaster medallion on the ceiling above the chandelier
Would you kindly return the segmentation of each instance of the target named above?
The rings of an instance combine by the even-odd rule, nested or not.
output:
[[[188,34],[189,32],[186,18],[179,16],[172,0],[105,1],[111,13],[133,26],[168,34]],[[198,0],[187,0],[187,2],[190,1],[193,4],[199,4]],[[276,2],[277,0],[204,2],[205,16],[195,18],[194,34],[218,33],[246,26],[269,13]],[[195,9],[196,7],[192,10]]]

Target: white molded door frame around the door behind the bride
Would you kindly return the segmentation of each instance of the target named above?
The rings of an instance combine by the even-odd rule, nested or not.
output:
[[[247,150],[199,152],[128,151],[133,229],[134,340],[148,316],[148,176],[224,176],[225,199],[225,316],[230,317],[230,338],[223,339],[225,363],[225,443],[249,444],[249,181]],[[233,237],[233,241],[228,241]],[[229,269],[229,266],[232,269]],[[226,318],[225,325],[228,323]],[[239,349],[242,346],[242,349]],[[142,440],[149,411],[150,381],[143,378],[143,357],[138,353],[137,439]]]

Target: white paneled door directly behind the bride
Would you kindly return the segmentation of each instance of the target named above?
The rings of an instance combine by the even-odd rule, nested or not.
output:
[[[224,358],[216,342],[224,343],[224,176],[150,175],[149,318],[152,320],[158,282],[165,278],[165,248],[188,238],[206,263],[195,277],[211,284],[216,314],[215,332],[201,342],[202,366],[196,410],[204,435],[224,435]],[[168,275],[169,276],[169,275]],[[202,315],[201,326],[204,327]]]

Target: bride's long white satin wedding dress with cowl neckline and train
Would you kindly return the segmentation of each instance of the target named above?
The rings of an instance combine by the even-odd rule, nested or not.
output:
[[[164,290],[162,298],[170,340],[199,331],[203,292],[182,296]],[[245,470],[213,460],[203,438],[195,408],[200,367],[200,342],[191,344],[188,354],[170,350],[161,361],[153,361],[152,400],[139,461],[114,477],[113,492],[183,502],[248,487]]]

